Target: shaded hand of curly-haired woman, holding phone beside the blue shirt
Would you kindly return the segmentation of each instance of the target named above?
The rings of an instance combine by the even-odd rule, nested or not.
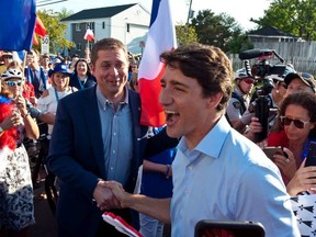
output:
[[[296,160],[286,147],[283,148],[283,153],[284,155],[274,155],[272,160],[289,179],[292,179],[297,170]]]

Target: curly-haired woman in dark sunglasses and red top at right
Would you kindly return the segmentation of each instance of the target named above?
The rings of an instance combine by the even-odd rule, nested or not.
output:
[[[284,155],[274,155],[273,161],[291,195],[316,188],[316,179],[308,179],[315,177],[316,167],[304,167],[309,143],[316,140],[315,124],[316,97],[308,92],[293,93],[284,99],[278,122],[268,135],[268,146],[283,147]]]

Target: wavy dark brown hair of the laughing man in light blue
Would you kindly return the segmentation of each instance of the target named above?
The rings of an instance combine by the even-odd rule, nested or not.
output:
[[[187,77],[195,78],[203,97],[223,93],[217,111],[223,111],[233,91],[233,68],[228,57],[218,47],[192,43],[165,52],[160,60],[171,68],[179,68]]]

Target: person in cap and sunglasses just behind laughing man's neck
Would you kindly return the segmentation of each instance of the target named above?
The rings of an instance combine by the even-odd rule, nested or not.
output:
[[[234,127],[240,120],[241,115],[247,111],[250,102],[250,92],[253,88],[255,79],[247,75],[245,68],[236,71],[235,89],[228,101],[226,110],[226,119]]]

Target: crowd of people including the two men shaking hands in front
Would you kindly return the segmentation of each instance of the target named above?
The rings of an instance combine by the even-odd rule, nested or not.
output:
[[[172,236],[193,236],[201,219],[253,221],[267,236],[300,236],[290,196],[316,189],[316,167],[305,167],[316,142],[311,74],[267,75],[268,131],[259,137],[257,78],[245,68],[234,76],[217,47],[193,43],[160,55],[162,127],[140,124],[138,63],[122,42],[98,41],[89,60],[55,59],[32,49],[23,68],[2,54],[0,236],[31,236],[23,140],[38,138],[38,122],[48,125],[47,167],[59,181],[58,236],[124,236],[104,211],[145,237],[162,237],[165,224]],[[268,158],[271,146],[282,153]]]

